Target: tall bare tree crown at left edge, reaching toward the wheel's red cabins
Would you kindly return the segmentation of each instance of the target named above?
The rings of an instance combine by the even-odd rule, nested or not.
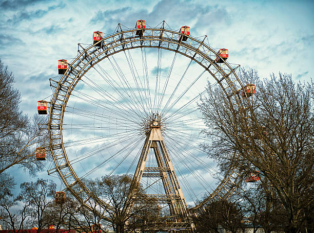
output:
[[[34,150],[36,144],[46,144],[38,126],[45,119],[38,115],[29,119],[19,110],[21,96],[13,84],[13,74],[0,60],[0,174],[17,165],[34,175],[43,169],[42,162],[35,159]]]

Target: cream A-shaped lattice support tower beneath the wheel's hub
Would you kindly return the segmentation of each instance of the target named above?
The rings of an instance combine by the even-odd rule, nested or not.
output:
[[[153,150],[158,167],[146,167],[150,150]],[[191,221],[186,200],[163,139],[161,121],[158,114],[151,117],[146,127],[146,140],[134,173],[133,182],[140,183],[143,177],[161,178],[165,194],[149,194],[149,196],[152,196],[160,204],[167,203],[169,205],[171,216],[175,216],[172,217],[172,221],[182,223],[176,230],[193,232],[195,227]],[[187,225],[188,227],[182,228],[182,225]]]

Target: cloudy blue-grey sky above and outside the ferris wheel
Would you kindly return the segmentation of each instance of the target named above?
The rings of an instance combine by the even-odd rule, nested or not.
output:
[[[109,35],[118,23],[133,28],[138,19],[145,19],[147,27],[165,20],[174,31],[187,25],[191,36],[207,35],[211,48],[228,49],[230,63],[256,69],[261,78],[281,72],[303,82],[314,72],[313,10],[313,1],[289,0],[0,0],[0,59],[13,72],[21,110],[29,116],[36,113],[38,100],[50,99],[57,60],[74,58],[77,43],[90,44],[93,31]],[[177,63],[178,69],[186,65],[184,58]]]

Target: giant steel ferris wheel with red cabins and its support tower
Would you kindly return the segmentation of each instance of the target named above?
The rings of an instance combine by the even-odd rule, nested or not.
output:
[[[132,175],[169,208],[171,229],[192,229],[190,206],[226,199],[238,182],[232,167],[220,177],[200,147],[206,126],[198,101],[209,81],[231,105],[244,108],[239,65],[228,63],[228,50],[213,49],[207,36],[195,38],[187,26],[171,30],[165,21],[156,27],[145,20],[135,28],[118,24],[113,34],[93,32],[91,42],[78,43],[71,61],[59,60],[59,76],[50,79],[54,165],[48,174],[60,177],[64,191],[87,208],[87,200],[101,206],[99,214],[108,221],[113,207],[84,181]]]

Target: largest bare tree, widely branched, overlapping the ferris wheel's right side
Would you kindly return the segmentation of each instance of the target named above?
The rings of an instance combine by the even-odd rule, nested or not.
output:
[[[251,104],[237,108],[219,88],[208,84],[199,108],[208,130],[203,148],[223,171],[237,166],[243,176],[258,171],[283,206],[286,232],[297,232],[314,200],[313,84],[293,82],[290,75],[261,81],[256,71],[241,70],[244,84],[256,84]],[[239,98],[241,92],[238,94]],[[238,151],[237,158],[230,152]]]

